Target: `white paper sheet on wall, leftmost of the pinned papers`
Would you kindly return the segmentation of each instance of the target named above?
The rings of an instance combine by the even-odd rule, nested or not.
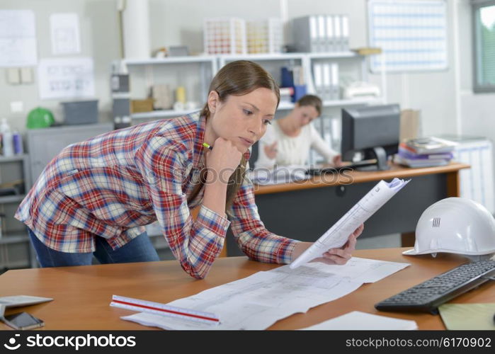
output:
[[[38,62],[35,14],[0,10],[0,67],[33,67]]]

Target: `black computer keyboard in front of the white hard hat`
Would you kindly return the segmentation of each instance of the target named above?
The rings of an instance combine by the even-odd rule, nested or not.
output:
[[[438,306],[487,282],[494,275],[495,261],[462,264],[378,302],[375,308],[380,311],[421,311],[437,314]]]

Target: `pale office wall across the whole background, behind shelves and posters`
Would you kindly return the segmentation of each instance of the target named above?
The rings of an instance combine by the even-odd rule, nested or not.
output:
[[[287,0],[288,18],[312,13],[348,13],[351,23],[351,47],[367,45],[367,1],[365,0]],[[99,98],[101,120],[110,117],[110,62],[119,57],[118,25],[115,0],[3,0],[1,8],[31,8],[35,11],[38,30],[39,58],[52,57],[49,36],[49,16],[54,12],[76,12],[81,23],[81,56],[93,56],[96,96]],[[263,11],[260,11],[263,8]],[[453,6],[448,1],[449,28],[452,28]],[[250,0],[149,0],[152,48],[188,45],[190,52],[203,50],[203,18],[238,16],[249,20],[280,16],[280,1]],[[450,35],[451,33],[449,33]],[[388,101],[403,108],[421,110],[423,132],[426,135],[454,133],[455,75],[453,71],[453,36],[449,38],[449,68],[444,72],[387,75]],[[0,69],[4,72],[4,69]],[[380,83],[379,76],[371,80]],[[0,74],[0,116],[22,129],[25,115],[36,105],[53,109],[61,119],[58,101],[40,101],[38,85],[6,85]],[[10,113],[11,101],[24,101],[25,111]],[[338,114],[338,111],[336,112]]]

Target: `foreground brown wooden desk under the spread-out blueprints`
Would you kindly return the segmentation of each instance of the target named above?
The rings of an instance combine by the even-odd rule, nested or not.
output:
[[[378,312],[373,307],[382,299],[466,261],[448,254],[440,254],[435,259],[431,256],[402,256],[402,251],[404,249],[355,251],[358,257],[406,262],[411,266],[379,282],[365,284],[341,299],[314,307],[306,314],[280,320],[270,329],[300,329],[353,310],[414,319],[419,329],[445,329],[438,315]],[[149,328],[121,320],[120,316],[132,312],[110,307],[112,295],[166,303],[278,266],[249,261],[245,257],[219,258],[205,280],[190,278],[176,261],[8,270],[0,275],[0,289],[2,296],[53,297],[55,300],[52,302],[7,311],[8,314],[21,310],[38,316],[45,321],[43,329],[140,330]],[[495,302],[495,284],[488,282],[453,302]],[[0,329],[8,327],[0,324]]]

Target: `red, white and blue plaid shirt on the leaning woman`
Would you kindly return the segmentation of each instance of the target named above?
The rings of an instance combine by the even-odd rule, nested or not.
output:
[[[199,113],[158,120],[69,145],[45,167],[16,212],[50,249],[95,251],[94,236],[113,249],[158,220],[173,255],[188,274],[204,278],[232,232],[249,258],[289,263],[297,241],[264,227],[245,178],[229,221],[201,205],[204,187],[190,200],[204,166],[205,118]],[[245,154],[249,158],[249,152]]]

